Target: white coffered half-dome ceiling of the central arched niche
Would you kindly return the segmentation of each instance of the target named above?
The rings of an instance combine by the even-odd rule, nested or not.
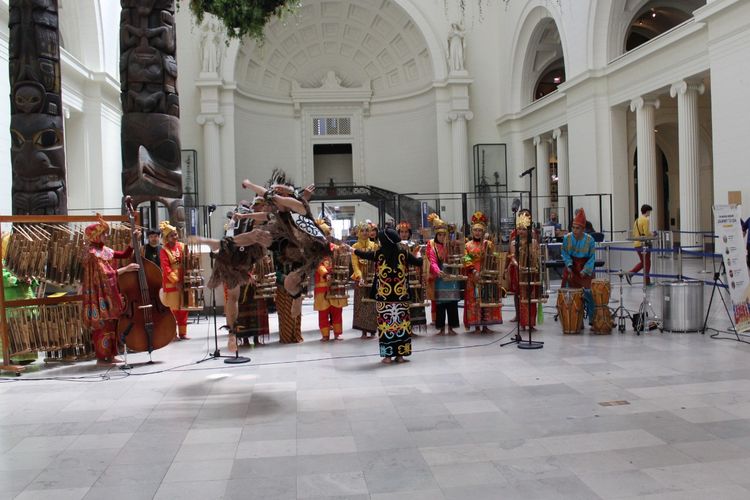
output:
[[[432,84],[424,36],[392,0],[306,0],[274,20],[261,45],[246,40],[235,79],[253,95],[285,99],[292,82],[319,87],[335,71],[344,87],[372,86],[374,98],[408,95]]]

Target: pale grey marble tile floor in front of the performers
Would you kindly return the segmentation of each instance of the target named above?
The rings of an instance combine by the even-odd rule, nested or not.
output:
[[[304,343],[272,336],[244,365],[196,363],[213,352],[203,320],[127,373],[0,380],[0,499],[750,498],[750,345],[563,336],[550,305],[541,350],[500,347],[507,322],[430,330],[386,366],[358,332],[318,342],[303,312]],[[726,328],[723,309],[710,323]]]

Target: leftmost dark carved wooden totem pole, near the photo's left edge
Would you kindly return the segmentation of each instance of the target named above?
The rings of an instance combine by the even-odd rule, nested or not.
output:
[[[10,2],[13,213],[67,213],[57,0]]]

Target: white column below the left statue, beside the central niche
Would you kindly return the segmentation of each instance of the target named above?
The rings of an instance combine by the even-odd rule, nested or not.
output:
[[[227,202],[223,199],[221,175],[221,134],[219,127],[224,124],[221,115],[198,115],[198,125],[203,127],[203,193],[201,203],[204,205]],[[199,163],[200,166],[200,163]],[[233,200],[228,201],[233,203]],[[221,211],[220,211],[221,212]],[[212,236],[221,235],[222,218],[214,216]]]

